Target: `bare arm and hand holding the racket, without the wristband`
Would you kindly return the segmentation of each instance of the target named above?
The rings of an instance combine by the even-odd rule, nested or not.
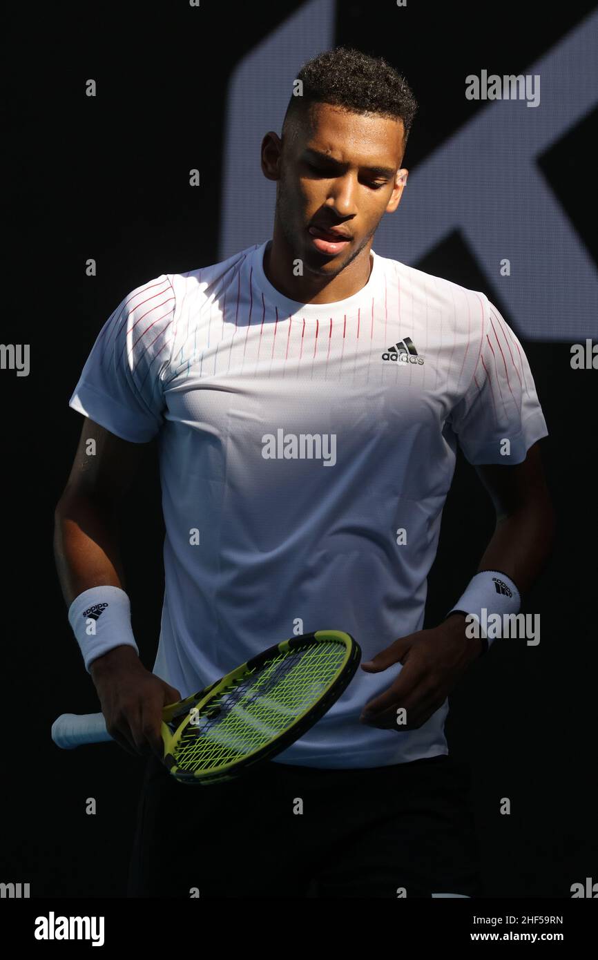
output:
[[[146,450],[147,444],[129,443],[85,418],[55,510],[54,553],[67,606],[92,587],[125,589],[117,509]],[[108,732],[129,753],[153,750],[161,758],[161,709],[180,699],[179,690],[146,670],[128,645],[93,660],[89,670]]]

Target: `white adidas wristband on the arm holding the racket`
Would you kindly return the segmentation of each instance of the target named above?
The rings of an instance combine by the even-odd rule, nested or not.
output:
[[[68,622],[84,655],[89,673],[92,660],[128,644],[139,653],[132,636],[131,601],[120,587],[91,587],[75,597]]]

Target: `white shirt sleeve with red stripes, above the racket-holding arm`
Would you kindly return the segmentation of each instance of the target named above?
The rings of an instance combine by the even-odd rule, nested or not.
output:
[[[166,275],[132,290],[98,334],[69,406],[123,440],[152,440],[164,422],[175,306]]]

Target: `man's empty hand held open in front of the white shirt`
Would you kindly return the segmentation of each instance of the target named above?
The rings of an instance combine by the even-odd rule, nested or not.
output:
[[[380,730],[418,730],[443,706],[481,652],[481,641],[466,636],[462,613],[454,613],[432,630],[400,636],[373,660],[361,664],[367,673],[379,673],[394,663],[402,663],[403,668],[388,690],[366,705],[360,720]],[[396,711],[401,707],[406,710],[407,722],[397,724]]]

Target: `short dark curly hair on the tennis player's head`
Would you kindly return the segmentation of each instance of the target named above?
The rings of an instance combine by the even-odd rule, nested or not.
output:
[[[283,136],[313,104],[330,104],[355,113],[378,113],[402,120],[406,146],[418,102],[404,77],[382,57],[336,47],[307,60],[297,80],[302,82],[302,95],[291,95],[282,122]]]

